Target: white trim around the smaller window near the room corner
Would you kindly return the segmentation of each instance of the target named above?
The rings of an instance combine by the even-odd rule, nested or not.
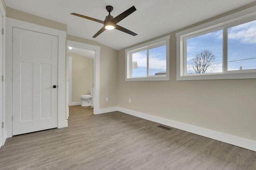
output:
[[[131,69],[130,65],[132,64],[132,61],[130,59],[131,53],[136,53],[138,51],[141,51],[142,49],[146,48],[152,48],[152,47],[159,47],[159,44],[162,43],[162,41],[166,41],[164,45],[166,45],[166,76],[164,75],[157,75],[157,76],[148,76],[148,77],[130,77],[131,75]],[[153,41],[150,41],[148,43],[144,43],[129,49],[125,50],[125,80],[126,81],[164,81],[164,80],[170,80],[170,35],[166,37],[162,37],[160,39],[156,39]]]

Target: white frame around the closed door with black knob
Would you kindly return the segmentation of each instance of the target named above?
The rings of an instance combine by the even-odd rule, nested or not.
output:
[[[58,128],[67,127],[66,115],[66,31],[6,18],[6,131],[12,137],[12,28],[18,27],[58,36]]]

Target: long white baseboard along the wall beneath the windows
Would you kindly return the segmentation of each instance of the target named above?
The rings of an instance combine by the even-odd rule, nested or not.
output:
[[[122,107],[117,107],[117,110],[121,111],[123,113],[129,114],[129,115],[140,117],[142,119],[154,121],[156,123],[160,123],[160,124],[163,124],[163,125],[167,125],[167,126],[170,126],[170,127],[181,129],[181,130],[184,130],[184,131],[187,131],[187,132],[190,132],[190,133],[194,133],[194,134],[197,134],[197,135],[201,135],[201,136],[204,136],[204,137],[208,137],[208,138],[211,138],[211,139],[215,139],[215,140],[218,140],[218,141],[229,143],[231,145],[235,145],[235,146],[238,146],[238,147],[242,147],[242,148],[245,148],[245,149],[256,151],[256,141],[252,141],[252,140],[249,140],[249,139],[244,139],[244,138],[241,138],[241,137],[236,137],[236,136],[233,136],[233,135],[228,135],[226,133],[212,131],[212,130],[209,130],[209,129],[204,129],[202,127],[196,127],[196,126],[193,126],[193,125],[180,123],[180,122],[177,122],[177,121],[172,121],[172,120],[169,120],[169,119],[164,119],[164,118],[161,118],[161,117],[156,117],[156,116],[153,116],[153,115],[148,115],[148,114],[145,114],[145,113],[141,113],[141,112],[138,112],[138,111],[133,111],[133,110],[130,110],[130,109],[125,109],[125,108],[122,108]]]

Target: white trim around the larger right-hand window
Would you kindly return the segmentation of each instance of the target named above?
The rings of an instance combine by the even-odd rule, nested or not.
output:
[[[230,14],[190,29],[176,33],[177,42],[177,80],[216,80],[216,79],[246,79],[256,78],[255,69],[252,70],[236,70],[221,73],[206,73],[206,74],[186,74],[186,38],[190,35],[207,33],[216,29],[222,29],[227,25],[239,25],[241,22],[251,21],[256,19],[256,6]],[[224,51],[225,53],[225,51]]]

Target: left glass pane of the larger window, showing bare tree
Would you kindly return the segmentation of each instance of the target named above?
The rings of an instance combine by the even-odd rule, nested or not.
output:
[[[186,74],[222,72],[223,30],[186,39]]]

